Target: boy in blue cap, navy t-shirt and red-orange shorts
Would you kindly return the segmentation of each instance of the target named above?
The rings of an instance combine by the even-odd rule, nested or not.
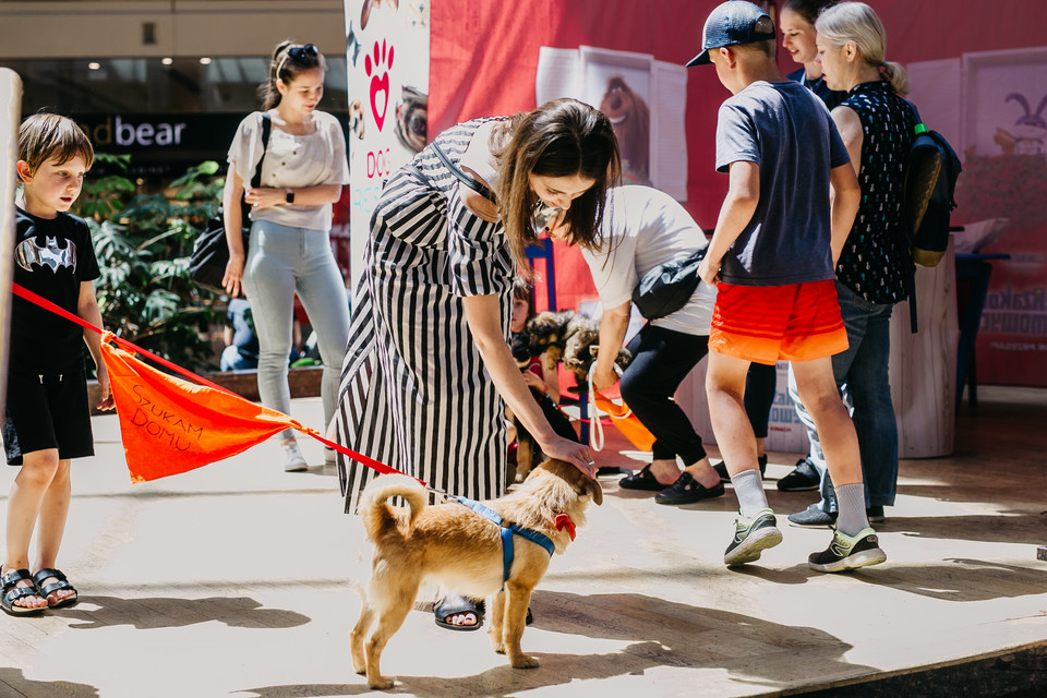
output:
[[[837,488],[832,544],[808,564],[841,571],[882,563],[865,514],[857,437],[830,360],[847,348],[833,269],[858,206],[854,169],[821,100],[779,71],[774,24],[760,8],[732,0],[712,11],[702,51],[688,67],[708,63],[733,95],[717,127],[717,169],[730,173],[730,188],[698,269],[718,287],[706,392],[741,509],[723,562],[753,562],[782,540],[743,395],[750,362],[784,359],[823,435],[832,481],[845,483]]]

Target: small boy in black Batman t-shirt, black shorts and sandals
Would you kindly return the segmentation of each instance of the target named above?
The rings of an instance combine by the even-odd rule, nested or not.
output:
[[[37,113],[22,123],[14,281],[100,327],[91,233],[67,213],[93,158],[91,142],[70,119]],[[70,459],[94,455],[84,341],[97,365],[98,407],[112,409],[112,398],[97,333],[16,297],[10,337],[3,443],[8,465],[22,470],[8,498],[0,603],[11,615],[35,615],[77,598],[56,558],[69,513]],[[31,575],[29,540],[37,520],[36,573]]]

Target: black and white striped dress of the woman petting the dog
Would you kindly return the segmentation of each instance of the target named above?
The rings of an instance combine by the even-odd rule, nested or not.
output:
[[[452,163],[483,121],[436,137]],[[515,266],[502,225],[466,208],[458,180],[429,146],[383,188],[364,264],[338,392],[338,443],[452,494],[501,496],[503,401],[461,299],[498,294],[508,338]],[[356,512],[376,473],[338,454],[338,474],[346,512]]]

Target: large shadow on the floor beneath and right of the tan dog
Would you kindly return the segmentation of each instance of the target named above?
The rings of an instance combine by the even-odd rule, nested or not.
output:
[[[851,645],[811,627],[790,627],[730,611],[693,606],[636,593],[580,595],[537,591],[534,625],[551,633],[627,642],[621,651],[591,654],[533,652],[541,666],[515,670],[505,664],[461,677],[398,677],[397,693],[426,698],[509,696],[568,683],[624,675],[643,675],[661,666],[725,670],[733,681],[770,688],[808,681],[795,662],[767,662],[769,652],[803,654],[817,662],[819,677],[854,677],[870,667],[849,663]],[[364,679],[361,677],[360,679]],[[326,696],[323,686],[252,689],[260,698]],[[334,688],[334,687],[330,687]],[[364,687],[360,687],[362,693]],[[300,693],[291,693],[299,690]],[[341,690],[339,688],[339,690]]]

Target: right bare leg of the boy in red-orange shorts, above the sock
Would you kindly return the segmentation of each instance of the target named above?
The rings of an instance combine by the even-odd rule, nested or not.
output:
[[[832,376],[830,358],[794,361],[796,390],[815,421],[833,486],[862,482],[858,437]]]

